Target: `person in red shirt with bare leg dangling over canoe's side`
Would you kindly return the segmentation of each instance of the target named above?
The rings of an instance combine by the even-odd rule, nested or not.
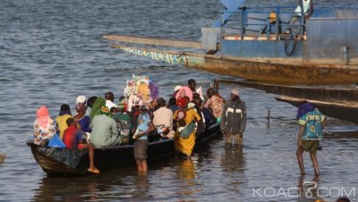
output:
[[[77,122],[73,118],[68,118],[66,120],[68,128],[64,130],[64,145],[66,148],[73,149],[88,149],[90,157],[90,168],[87,169],[90,173],[99,173],[99,170],[95,167],[94,164],[94,153],[95,149],[91,143],[86,143],[82,137],[83,131],[77,128]]]

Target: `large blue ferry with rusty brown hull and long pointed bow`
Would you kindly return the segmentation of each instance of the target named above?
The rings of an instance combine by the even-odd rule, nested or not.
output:
[[[201,29],[198,41],[104,38],[122,42],[113,46],[133,55],[246,80],[302,85],[358,82],[357,8],[314,7],[307,21],[297,21],[286,32],[297,5],[242,7],[243,0],[220,1],[224,11],[213,27]]]

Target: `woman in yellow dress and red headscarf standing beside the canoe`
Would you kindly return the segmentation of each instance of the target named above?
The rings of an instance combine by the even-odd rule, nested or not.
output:
[[[200,115],[193,108],[187,109],[188,99],[185,97],[179,97],[177,105],[181,109],[176,110],[173,117],[177,124],[175,149],[190,158],[195,146],[195,122],[200,121]]]

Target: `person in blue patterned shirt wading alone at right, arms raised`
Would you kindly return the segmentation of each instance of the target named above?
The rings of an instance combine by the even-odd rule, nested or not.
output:
[[[304,174],[303,167],[303,151],[310,152],[314,173],[319,175],[319,163],[317,161],[316,152],[320,148],[320,140],[322,139],[322,129],[326,126],[327,117],[320,113],[307,101],[303,101],[298,108],[296,118],[300,125],[300,132],[297,137],[297,160]]]

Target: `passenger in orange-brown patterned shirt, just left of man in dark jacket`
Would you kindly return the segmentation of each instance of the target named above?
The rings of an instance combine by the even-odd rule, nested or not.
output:
[[[207,90],[207,96],[209,97],[208,101],[205,103],[205,108],[209,109],[212,114],[214,114],[215,118],[217,118],[217,122],[221,121],[221,114],[223,113],[224,101],[222,97],[217,96],[215,94],[214,88],[209,88]]]

